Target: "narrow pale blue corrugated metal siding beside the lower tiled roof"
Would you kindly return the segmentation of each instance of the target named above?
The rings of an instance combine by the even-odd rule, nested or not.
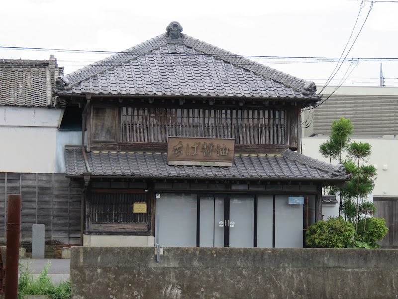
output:
[[[78,146],[82,144],[81,131],[57,131],[56,134],[56,160],[55,173],[66,173],[65,146]]]

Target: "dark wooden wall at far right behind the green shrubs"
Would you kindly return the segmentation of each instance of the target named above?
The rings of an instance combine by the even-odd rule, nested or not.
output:
[[[375,217],[386,219],[389,228],[380,245],[384,248],[398,248],[398,198],[374,197],[376,206]]]

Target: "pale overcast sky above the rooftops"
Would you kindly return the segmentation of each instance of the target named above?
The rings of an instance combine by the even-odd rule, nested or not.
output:
[[[360,5],[356,0],[5,0],[0,46],[121,51],[165,32],[175,20],[184,27],[183,33],[240,55],[340,57]],[[352,39],[370,5],[364,2]],[[398,3],[374,3],[348,57],[398,57],[397,15]],[[65,73],[109,56],[0,49],[0,58],[48,59],[50,54]],[[259,61],[317,86],[326,82],[336,65]],[[397,66],[398,60],[383,61],[387,86],[398,86]],[[353,68],[345,62],[331,85]],[[360,60],[344,85],[378,86],[379,74],[380,61]]]

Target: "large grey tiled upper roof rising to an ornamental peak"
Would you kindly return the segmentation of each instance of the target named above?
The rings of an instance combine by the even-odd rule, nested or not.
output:
[[[313,82],[180,34],[160,34],[60,76],[55,93],[319,98]]]

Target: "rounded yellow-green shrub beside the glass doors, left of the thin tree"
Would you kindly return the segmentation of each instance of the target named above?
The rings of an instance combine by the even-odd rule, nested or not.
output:
[[[340,216],[310,225],[305,233],[305,242],[308,247],[345,248],[354,234],[354,225]]]

